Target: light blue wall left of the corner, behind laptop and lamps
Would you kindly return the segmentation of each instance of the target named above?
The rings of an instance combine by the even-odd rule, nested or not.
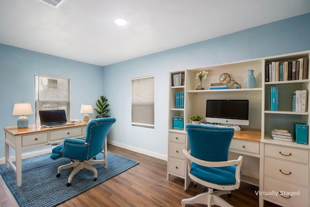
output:
[[[95,106],[96,100],[103,95],[101,66],[0,44],[0,158],[4,157],[3,128],[16,126],[18,116],[12,115],[14,103],[30,102],[34,112],[35,73],[70,78],[72,119],[83,117],[79,113],[82,104]],[[95,115],[91,114],[91,118]],[[27,117],[29,124],[35,123],[34,115]]]

